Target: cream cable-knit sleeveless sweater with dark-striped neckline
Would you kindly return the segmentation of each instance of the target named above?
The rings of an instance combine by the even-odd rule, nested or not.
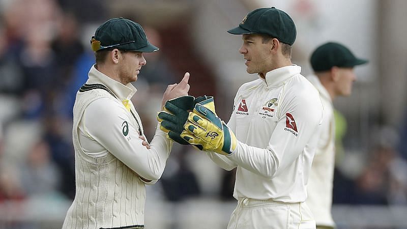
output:
[[[102,84],[95,80],[86,83]],[[79,144],[78,124],[84,109],[102,97],[114,96],[103,89],[78,92],[76,96],[73,109],[76,195],[63,228],[144,228],[144,183],[114,155],[92,157]],[[142,129],[141,122],[138,124]]]

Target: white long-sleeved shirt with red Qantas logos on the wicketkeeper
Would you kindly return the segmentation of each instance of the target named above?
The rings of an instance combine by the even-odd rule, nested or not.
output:
[[[237,148],[228,156],[208,153],[222,168],[237,167],[236,199],[298,203],[307,198],[323,108],[300,71],[295,65],[278,68],[240,87],[227,124]]]

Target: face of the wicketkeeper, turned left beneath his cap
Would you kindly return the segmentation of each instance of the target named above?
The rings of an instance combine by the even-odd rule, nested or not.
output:
[[[270,65],[270,43],[263,44],[262,37],[258,34],[244,34],[243,44],[239,52],[245,59],[246,71],[252,73],[266,73]]]

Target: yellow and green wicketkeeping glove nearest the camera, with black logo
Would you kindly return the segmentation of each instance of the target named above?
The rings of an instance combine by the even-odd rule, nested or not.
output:
[[[203,151],[228,155],[236,149],[235,134],[216,115],[213,97],[195,105],[189,112],[181,137]]]

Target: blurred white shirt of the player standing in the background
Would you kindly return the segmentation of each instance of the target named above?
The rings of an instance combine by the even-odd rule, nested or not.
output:
[[[315,151],[307,185],[307,205],[311,209],[316,225],[335,226],[331,215],[332,188],[335,167],[335,120],[331,96],[318,77],[307,79],[315,86],[324,106],[321,137]]]

